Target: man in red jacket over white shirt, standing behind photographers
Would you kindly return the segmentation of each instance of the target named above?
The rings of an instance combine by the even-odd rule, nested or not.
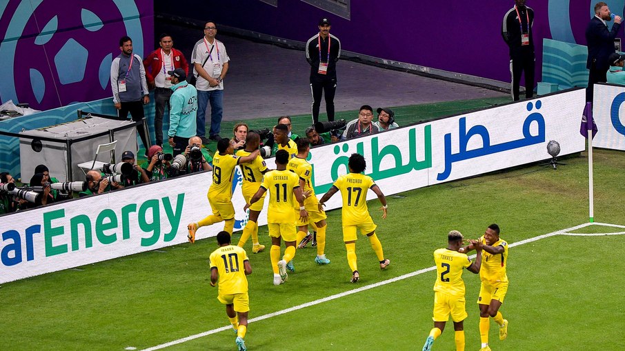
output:
[[[182,68],[186,74],[189,73],[189,64],[184,55],[179,50],[172,48],[174,42],[169,34],[161,34],[157,50],[143,60],[143,66],[146,68],[146,79],[148,87],[154,89],[154,101],[156,113],[154,116],[154,130],[156,134],[156,145],[163,146],[163,114],[165,106],[168,110],[169,98],[171,97],[172,86],[171,77],[168,71],[176,68]]]

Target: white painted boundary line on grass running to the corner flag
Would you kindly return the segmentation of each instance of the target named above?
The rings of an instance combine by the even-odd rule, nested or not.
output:
[[[584,224],[580,224],[580,225],[575,225],[575,227],[566,228],[566,229],[563,229],[563,230],[556,230],[555,232],[550,232],[548,234],[542,234],[542,235],[539,235],[537,237],[524,239],[522,241],[517,241],[516,243],[511,243],[510,244],[510,248],[513,248],[513,247],[518,246],[518,245],[524,245],[526,243],[531,243],[533,241],[537,241],[537,240],[540,240],[540,239],[553,237],[555,235],[586,235],[586,236],[595,236],[595,235],[625,234],[625,232],[608,233],[608,234],[571,234],[571,233],[568,233],[569,230],[577,230],[577,229],[580,229],[580,228],[587,227],[588,225],[604,225],[604,226],[611,226],[611,227],[617,227],[617,228],[625,228],[625,225],[606,224],[606,223],[584,223]],[[472,257],[475,257],[475,254],[473,254]],[[293,306],[291,308],[286,308],[285,310],[280,310],[280,311],[277,311],[277,312],[264,314],[264,315],[262,315],[260,317],[255,317],[255,318],[252,318],[252,319],[248,319],[248,323],[262,321],[264,319],[269,319],[269,318],[272,318],[272,317],[276,317],[276,316],[279,316],[281,314],[286,314],[286,313],[289,313],[289,312],[301,310],[302,308],[307,308],[307,307],[310,307],[310,306],[319,305],[319,303],[324,303],[326,301],[332,301],[332,300],[335,300],[335,299],[340,299],[341,297],[346,297],[346,296],[351,295],[351,294],[356,294],[357,292],[361,292],[361,291],[377,288],[378,286],[394,283],[395,281],[404,280],[404,279],[407,279],[407,278],[410,278],[410,277],[415,277],[415,276],[417,276],[419,274],[423,274],[425,272],[430,272],[431,270],[436,270],[436,266],[432,266],[432,267],[429,267],[429,268],[423,268],[421,270],[417,270],[415,272],[410,272],[410,273],[407,273],[407,274],[403,274],[403,275],[400,275],[399,277],[387,279],[385,281],[379,281],[377,283],[364,285],[361,288],[356,288],[356,289],[353,289],[353,290],[348,290],[346,292],[341,292],[339,294],[330,295],[328,297],[324,297],[323,299],[318,299],[318,300],[315,300],[315,301],[302,303],[301,305]],[[198,339],[198,338],[201,338],[201,337],[206,337],[207,335],[215,334],[215,333],[218,333],[218,332],[224,332],[226,330],[232,330],[232,325],[227,325],[225,327],[216,328],[216,329],[212,329],[212,330],[207,330],[206,332],[201,332],[199,334],[190,335],[188,337],[185,337],[185,338],[182,338],[182,339],[177,339],[177,340],[174,340],[174,341],[170,341],[168,343],[161,343],[161,345],[152,346],[151,348],[146,348],[146,349],[143,349],[141,351],[160,350],[162,348],[168,348],[169,346],[172,346],[172,345],[177,345],[179,343],[185,343],[186,341],[191,341],[191,340]]]

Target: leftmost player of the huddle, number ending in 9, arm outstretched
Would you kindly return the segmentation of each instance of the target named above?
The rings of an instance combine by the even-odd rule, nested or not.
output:
[[[195,232],[198,228],[225,221],[224,230],[232,234],[235,228],[235,208],[232,206],[232,174],[235,167],[241,163],[252,162],[259,154],[259,150],[254,150],[246,157],[238,157],[232,154],[234,148],[230,140],[224,138],[217,142],[218,154],[212,158],[212,183],[208,188],[208,203],[212,209],[212,214],[197,223],[189,223],[188,238],[191,243],[195,243]]]

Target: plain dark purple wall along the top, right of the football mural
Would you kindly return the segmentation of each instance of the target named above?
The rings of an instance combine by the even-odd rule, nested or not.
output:
[[[527,1],[536,14],[533,32],[537,80],[541,77],[542,38],[575,40],[585,45],[584,30],[594,2],[569,2],[573,1]],[[622,2],[613,1],[611,10],[622,14]],[[501,27],[504,14],[514,6],[513,0],[448,1],[447,4],[353,0],[350,20],[299,0],[280,0],[277,8],[257,0],[187,0],[185,3],[181,9],[171,1],[159,1],[155,12],[214,19],[218,24],[298,41],[313,36],[319,18],[328,16],[333,21],[332,33],[341,39],[345,50],[499,81],[510,80],[508,47],[502,40]],[[552,37],[552,32],[572,32],[568,35],[571,40],[566,40],[566,35]],[[622,37],[622,32],[619,36]]]

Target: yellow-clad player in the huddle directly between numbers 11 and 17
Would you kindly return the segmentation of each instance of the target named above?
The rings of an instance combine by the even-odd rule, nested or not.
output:
[[[304,243],[308,241],[302,241],[306,237],[306,231],[308,230],[308,223],[314,223],[317,229],[317,257],[315,257],[315,263],[319,265],[326,265],[330,263],[330,260],[326,258],[324,250],[326,250],[326,212],[319,210],[319,200],[315,196],[315,190],[313,189],[313,183],[310,181],[313,177],[313,166],[306,161],[310,152],[310,143],[306,138],[300,138],[297,140],[297,157],[290,159],[286,168],[291,172],[295,172],[299,177],[299,186],[304,191],[304,207],[308,212],[308,218],[306,221],[297,221],[296,225],[299,228],[297,232],[297,243]],[[296,211],[299,209],[296,207]]]

